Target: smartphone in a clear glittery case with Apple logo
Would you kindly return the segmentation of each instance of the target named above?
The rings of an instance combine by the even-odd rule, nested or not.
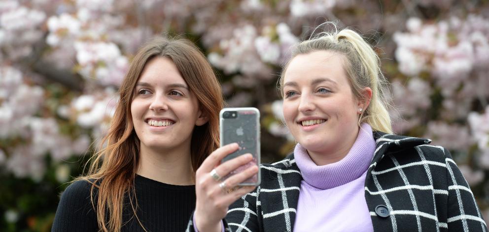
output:
[[[221,163],[240,155],[250,153],[253,155],[252,162],[239,167],[228,175],[240,173],[253,163],[260,167],[260,111],[253,107],[224,108],[219,113],[220,141],[221,146],[238,143],[240,148],[221,160]],[[240,186],[260,184],[260,170],[252,177],[240,183]]]

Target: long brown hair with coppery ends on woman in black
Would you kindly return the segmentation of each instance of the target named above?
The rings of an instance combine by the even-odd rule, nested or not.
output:
[[[92,205],[96,208],[101,231],[120,231],[125,196],[129,196],[134,216],[144,229],[136,214],[138,205],[135,201],[134,178],[140,161],[140,140],[134,131],[131,102],[145,64],[155,57],[173,60],[190,91],[195,93],[201,111],[209,118],[206,124],[195,126],[192,132],[190,150],[193,171],[219,147],[218,115],[223,107],[223,98],[210,63],[187,39],[154,38],[140,48],[119,88],[120,98],[115,114],[108,134],[102,140],[106,146],[91,158],[88,174],[76,178],[92,184]],[[95,188],[97,194],[94,193]],[[97,204],[94,199],[97,199]]]

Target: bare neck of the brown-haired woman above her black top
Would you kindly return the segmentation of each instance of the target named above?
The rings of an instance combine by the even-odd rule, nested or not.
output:
[[[167,184],[193,185],[190,146],[169,150],[141,146],[136,173]]]

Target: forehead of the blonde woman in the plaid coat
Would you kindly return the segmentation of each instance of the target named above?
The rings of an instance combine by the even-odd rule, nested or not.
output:
[[[348,76],[343,66],[344,60],[344,55],[329,51],[298,55],[287,66],[283,83],[328,78],[341,85],[348,84]]]

